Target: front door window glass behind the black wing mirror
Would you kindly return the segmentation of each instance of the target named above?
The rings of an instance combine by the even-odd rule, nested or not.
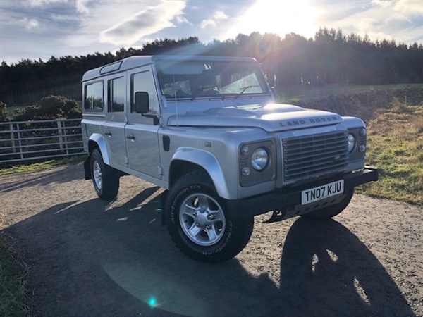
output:
[[[130,79],[131,112],[133,112],[133,109],[135,108],[135,92],[148,92],[149,109],[151,112],[158,112],[159,100],[157,99],[156,86],[154,85],[152,73],[149,70],[142,73],[135,73],[131,75]]]

